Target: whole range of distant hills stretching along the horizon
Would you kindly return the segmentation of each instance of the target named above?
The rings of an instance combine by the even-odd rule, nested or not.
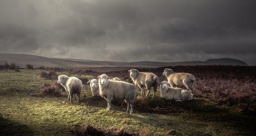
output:
[[[25,67],[26,63],[34,66],[45,67],[164,67],[164,66],[186,66],[186,65],[240,65],[247,66],[243,61],[236,59],[222,58],[209,59],[207,61],[184,61],[184,62],[156,62],[156,61],[138,61],[138,62],[117,62],[117,61],[92,61],[84,59],[68,58],[48,58],[43,56],[29,54],[0,54],[0,64],[16,63],[18,66]]]

